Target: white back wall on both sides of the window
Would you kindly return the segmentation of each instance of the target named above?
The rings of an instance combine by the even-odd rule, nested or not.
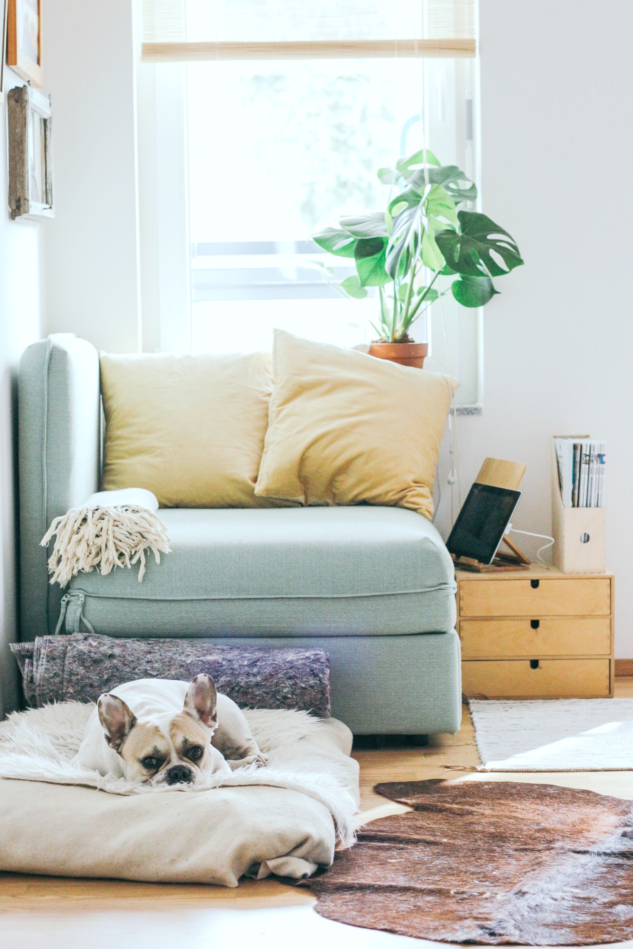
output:
[[[604,438],[616,652],[633,657],[633,445],[620,424],[633,395],[633,4],[479,0],[479,8],[483,208],[516,237],[526,265],[497,282],[502,295],[485,309],[484,415],[457,419],[462,496],[485,456],[525,460],[514,523],[548,533],[550,436]],[[47,329],[136,350],[132,0],[45,9],[57,206],[47,228]],[[443,490],[446,531],[445,481]]]

